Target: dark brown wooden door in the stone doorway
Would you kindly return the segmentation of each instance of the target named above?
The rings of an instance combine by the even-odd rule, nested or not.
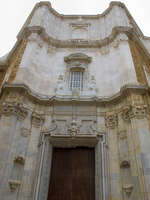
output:
[[[94,199],[94,149],[54,148],[48,200]]]

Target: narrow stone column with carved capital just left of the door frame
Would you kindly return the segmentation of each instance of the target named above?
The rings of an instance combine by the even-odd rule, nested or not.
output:
[[[39,137],[43,123],[44,116],[33,112],[31,115],[31,136],[28,144],[24,175],[18,200],[33,200],[39,153]]]

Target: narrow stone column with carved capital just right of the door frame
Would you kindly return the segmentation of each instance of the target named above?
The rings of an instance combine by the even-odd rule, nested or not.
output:
[[[108,134],[109,169],[110,169],[110,199],[121,200],[121,177],[119,166],[119,151],[117,138],[118,117],[111,113],[106,115],[105,123]]]

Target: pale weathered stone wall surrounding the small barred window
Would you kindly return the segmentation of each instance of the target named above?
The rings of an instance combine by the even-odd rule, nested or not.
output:
[[[37,34],[32,34],[12,83],[24,83],[42,95],[55,95],[59,75],[69,79],[64,57],[79,52],[92,58],[86,79],[90,82],[91,76],[95,77],[96,96],[112,96],[124,85],[138,84],[128,38],[124,34],[100,49],[55,48],[43,42]]]

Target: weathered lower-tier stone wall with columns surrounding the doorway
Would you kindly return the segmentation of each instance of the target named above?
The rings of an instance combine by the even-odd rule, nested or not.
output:
[[[35,195],[46,195],[48,187],[45,184],[49,183],[49,178],[45,179],[45,174],[49,173],[50,160],[45,157],[46,160],[41,161],[44,133],[52,134],[53,145],[63,147],[93,146],[98,134],[105,133],[105,195],[118,200],[150,197],[150,131],[148,107],[144,100],[146,94],[133,90],[122,100],[107,102],[104,106],[93,101],[36,103],[24,92],[15,92],[14,89],[8,91],[4,93],[0,120],[0,195],[4,200],[33,200]],[[71,125],[72,117],[77,119],[74,122],[77,123],[76,128]],[[74,139],[70,140],[67,136],[62,140],[61,135]],[[48,156],[51,147],[47,142],[45,152]],[[41,162],[45,163],[46,168],[42,168],[44,171],[41,172],[42,179],[38,186]],[[99,162],[104,160],[97,160],[97,165]],[[97,174],[97,181],[102,181],[102,168],[96,170],[100,173]],[[97,197],[99,200],[101,198],[101,195]]]

